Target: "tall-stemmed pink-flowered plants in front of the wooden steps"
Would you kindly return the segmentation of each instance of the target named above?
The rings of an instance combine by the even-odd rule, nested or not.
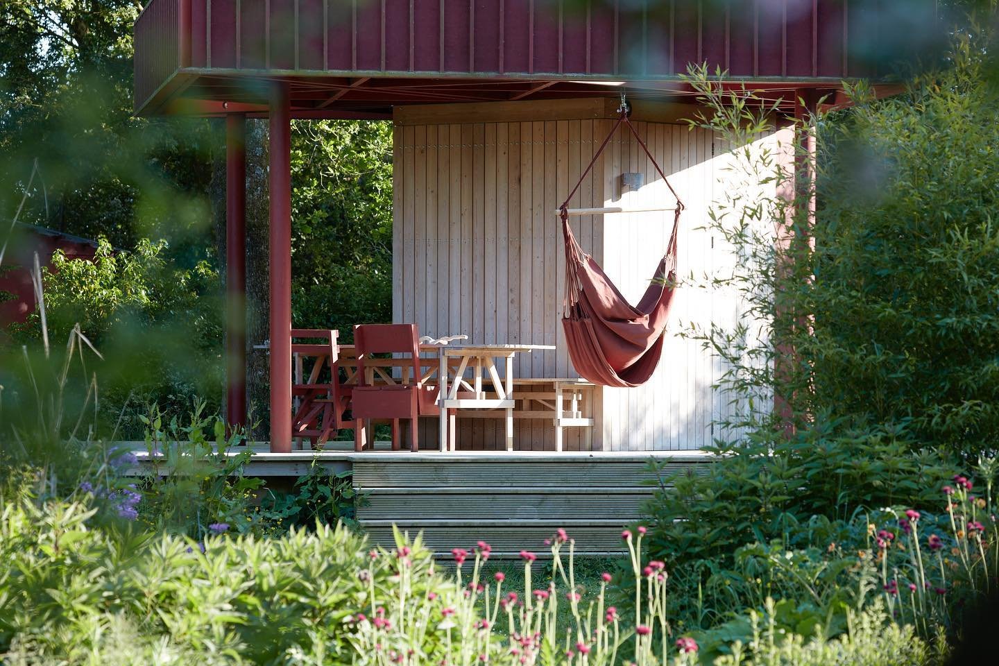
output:
[[[547,582],[534,587],[537,555],[521,550],[522,591],[505,591],[505,574],[497,571],[493,580],[483,577],[492,547],[479,541],[472,552],[455,548],[454,585],[414,595],[421,575],[413,566],[413,549],[396,530],[397,547],[392,551],[372,550],[373,569],[391,569],[390,589],[375,584],[370,570],[360,576],[367,581],[367,595],[361,609],[349,618],[351,642],[357,650],[357,663],[391,666],[442,663],[472,666],[499,663],[519,666],[534,664],[576,664],[603,666],[624,661],[646,664],[693,664],[697,643],[690,637],[670,644],[665,614],[666,572],[658,561],[641,563],[641,540],[645,528],[635,533],[624,530],[635,586],[633,616],[624,619],[608,604],[609,573],[600,578],[596,598],[581,604],[580,586],[575,579],[575,541],[558,529],[546,543],[551,564]],[[419,542],[419,537],[418,537]],[[472,570],[466,575],[468,561]],[[434,575],[433,568],[423,575]],[[559,604],[569,609],[567,626],[559,627]],[[429,641],[434,631],[440,641]],[[433,646],[433,653],[428,646]]]

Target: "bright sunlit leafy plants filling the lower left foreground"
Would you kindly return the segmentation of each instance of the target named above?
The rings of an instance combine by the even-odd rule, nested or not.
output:
[[[381,588],[395,572],[344,527],[276,539],[209,536],[203,554],[177,536],[93,529],[92,511],[79,502],[2,501],[0,653],[13,644],[33,663],[135,663],[110,661],[104,634],[124,626],[145,637],[137,652],[176,649],[199,663],[347,663],[345,620],[369,581]],[[412,550],[414,593],[448,589],[428,573],[428,552]],[[439,635],[432,628],[429,644]]]

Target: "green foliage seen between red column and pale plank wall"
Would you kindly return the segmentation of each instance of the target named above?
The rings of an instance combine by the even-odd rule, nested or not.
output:
[[[339,329],[392,319],[392,124],[296,122],[293,321]]]

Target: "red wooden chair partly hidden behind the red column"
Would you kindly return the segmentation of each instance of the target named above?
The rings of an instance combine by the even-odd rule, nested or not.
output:
[[[340,380],[339,335],[338,331],[316,329],[292,331],[292,399],[298,403],[292,416],[292,434],[308,437],[313,448],[320,448],[337,430],[354,427],[353,421],[344,418],[353,386]]]

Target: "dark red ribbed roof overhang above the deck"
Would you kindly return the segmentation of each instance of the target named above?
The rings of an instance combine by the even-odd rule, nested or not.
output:
[[[152,0],[135,28],[143,116],[266,115],[275,82],[299,118],[389,118],[409,104],[694,93],[689,62],[791,108],[882,76],[899,21],[874,0]],[[911,33],[910,33],[911,34]],[[927,32],[927,34],[930,34]],[[916,40],[918,41],[918,40]],[[904,42],[905,49],[916,41]]]

